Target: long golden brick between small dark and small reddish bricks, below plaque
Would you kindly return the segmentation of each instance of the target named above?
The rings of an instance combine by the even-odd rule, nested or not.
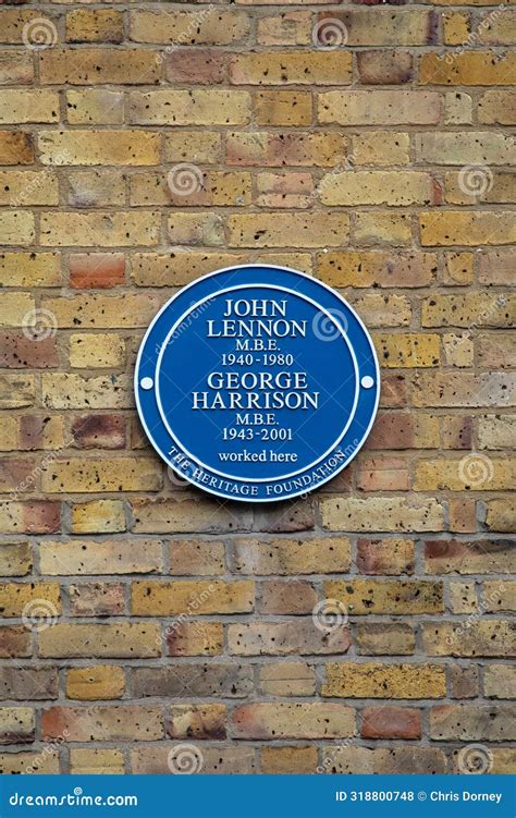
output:
[[[134,582],[132,611],[144,616],[176,613],[249,613],[254,609],[255,585],[247,579],[197,582]]]

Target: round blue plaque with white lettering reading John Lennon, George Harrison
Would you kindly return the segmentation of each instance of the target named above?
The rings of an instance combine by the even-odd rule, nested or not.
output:
[[[334,290],[296,270],[229,267],[158,313],[135,371],[150,442],[218,497],[285,500],[330,480],[378,408],[372,341]]]

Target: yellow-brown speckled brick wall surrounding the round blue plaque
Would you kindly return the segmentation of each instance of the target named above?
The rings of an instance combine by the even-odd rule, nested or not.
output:
[[[3,771],[511,768],[515,12],[374,3],[1,4]],[[250,508],[167,473],[132,373],[258,259],[355,305],[383,389]]]

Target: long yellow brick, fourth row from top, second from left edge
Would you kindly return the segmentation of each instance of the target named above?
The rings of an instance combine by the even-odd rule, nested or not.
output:
[[[40,131],[44,164],[158,164],[161,135],[145,131]]]

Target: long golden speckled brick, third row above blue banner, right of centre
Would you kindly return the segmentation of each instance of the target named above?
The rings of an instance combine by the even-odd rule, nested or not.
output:
[[[325,667],[323,696],[420,699],[446,695],[445,669],[439,664],[328,662]]]

